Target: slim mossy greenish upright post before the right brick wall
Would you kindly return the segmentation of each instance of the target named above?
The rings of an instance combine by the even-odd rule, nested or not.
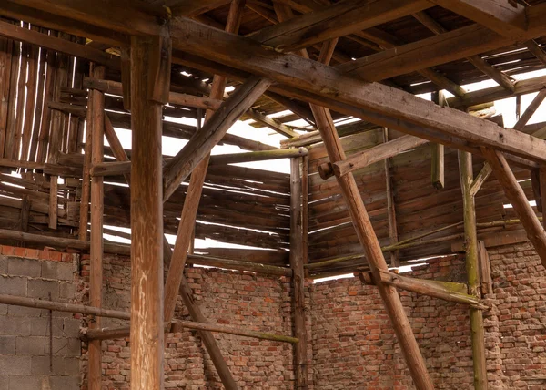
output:
[[[476,231],[476,210],[474,196],[470,186],[474,179],[472,172],[472,156],[465,151],[459,151],[460,188],[464,212],[464,237],[466,250],[466,270],[469,280],[470,295],[481,297],[480,263],[478,236]],[[470,329],[472,340],[472,359],[474,365],[474,388],[487,389],[487,367],[485,360],[485,333],[483,316],[479,309],[470,307]]]

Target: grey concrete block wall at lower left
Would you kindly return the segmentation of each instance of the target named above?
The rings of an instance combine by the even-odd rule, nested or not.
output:
[[[0,253],[0,293],[76,302],[78,255],[11,246]],[[0,389],[79,389],[81,319],[54,311],[51,323],[47,310],[0,304]]]

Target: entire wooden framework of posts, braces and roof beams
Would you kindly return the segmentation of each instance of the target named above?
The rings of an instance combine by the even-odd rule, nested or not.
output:
[[[18,169],[34,169],[50,175],[47,183],[47,224],[55,230],[59,220],[58,188],[59,176],[82,179],[78,239],[42,236],[21,231],[0,230],[2,240],[20,240],[27,243],[55,244],[91,252],[90,305],[77,306],[0,296],[0,303],[20,304],[29,307],[55,308],[76,313],[96,315],[85,332],[89,342],[89,389],[101,388],[101,341],[109,338],[131,338],[131,386],[134,389],[163,388],[163,336],[171,326],[196,329],[200,332],[218,375],[227,389],[236,389],[238,384],[230,373],[216,340],[210,332],[225,332],[261,339],[295,344],[296,387],[308,388],[308,334],[305,323],[304,281],[308,272],[348,258],[329,259],[308,263],[308,150],[275,149],[258,142],[230,134],[227,130],[240,118],[253,118],[268,128],[287,137],[283,148],[301,148],[322,141],[328,161],[319,166],[323,179],[335,176],[341,191],[344,207],[349,212],[349,221],[363,250],[357,259],[365,259],[366,272],[359,271],[363,282],[377,286],[390,321],[394,327],[400,349],[408,364],[413,382],[418,389],[432,389],[433,383],[425,360],[412,333],[410,322],[399,299],[397,288],[419,292],[470,306],[472,330],[472,352],[474,357],[475,387],[487,388],[485,346],[481,301],[484,289],[483,274],[487,270],[487,256],[480,251],[476,222],[475,196],[492,172],[514,210],[520,216],[527,231],[546,265],[546,233],[532,210],[529,201],[512,172],[509,161],[517,167],[531,169],[534,188],[542,208],[546,207],[546,138],[543,128],[526,127],[532,114],[546,97],[546,79],[537,77],[515,82],[499,67],[490,65],[483,53],[525,42],[530,52],[542,63],[546,55],[534,39],[546,35],[546,4],[522,6],[517,2],[502,0],[404,0],[404,1],[357,1],[314,2],[308,0],[248,2],[248,9],[262,15],[270,26],[252,31],[246,36],[238,35],[243,25],[244,0],[222,1],[167,1],[166,6],[157,6],[153,1],[110,2],[107,0],[4,0],[0,4],[0,15],[23,20],[33,26],[44,26],[64,33],[84,36],[93,42],[87,45],[47,35],[33,28],[16,26],[0,21],[0,36],[23,42],[23,61],[32,58],[35,52],[29,47],[40,46],[51,53],[62,53],[60,57],[76,56],[92,63],[88,77],[81,75],[81,88],[89,90],[86,107],[76,107],[61,101],[60,87],[53,88],[51,75],[45,78],[45,118],[51,122],[47,137],[25,129],[19,137],[6,136],[10,131],[8,121],[0,121],[3,131],[2,148],[8,150],[0,159],[0,166]],[[267,6],[264,6],[267,5]],[[475,24],[448,29],[432,15],[436,5],[462,15]],[[207,13],[218,7],[228,6],[225,26],[211,19]],[[298,12],[298,15],[294,13]],[[394,36],[381,32],[377,26],[402,17],[414,17],[430,29],[433,36],[411,43],[404,43]],[[220,25],[222,29],[217,28]],[[339,38],[349,39],[367,47],[372,54],[352,58],[339,50]],[[11,41],[10,41],[11,43]],[[29,46],[26,46],[29,45]],[[18,46],[17,46],[18,47]],[[115,54],[107,54],[105,49]],[[12,56],[9,65],[14,65],[19,56]],[[47,61],[52,61],[47,57]],[[499,84],[477,92],[467,92],[456,82],[442,74],[436,67],[447,62],[465,59],[482,74]],[[2,60],[2,58],[0,58]],[[330,65],[333,62],[333,65]],[[67,67],[59,64],[55,81],[67,79]],[[65,64],[66,65],[66,64]],[[20,65],[18,65],[20,66]],[[173,67],[184,66],[199,69],[214,75],[210,86],[194,81],[184,89],[176,87],[177,77]],[[35,72],[28,67],[31,76]],[[116,70],[122,82],[107,79],[107,71]],[[2,72],[2,67],[0,67]],[[445,99],[439,93],[436,101],[426,101],[403,90],[397,85],[397,77],[417,72],[435,85],[435,89],[448,89],[454,97]],[[9,75],[8,73],[5,73]],[[481,73],[480,73],[481,74]],[[3,76],[0,73],[0,76]],[[29,77],[34,79],[34,77]],[[227,82],[236,88],[225,96]],[[15,85],[14,80],[10,82]],[[7,83],[5,83],[7,84]],[[66,84],[66,83],[65,83]],[[49,87],[47,87],[49,86]],[[31,86],[32,87],[32,86]],[[35,88],[35,87],[34,87]],[[58,89],[58,90],[57,90]],[[75,101],[76,88],[70,91]],[[193,91],[190,93],[188,91]],[[197,91],[197,92],[195,92]],[[9,95],[7,88],[7,95]],[[66,92],[66,91],[65,91]],[[473,111],[483,114],[483,107],[502,97],[521,96],[539,92],[514,128],[503,128],[498,124],[469,115]],[[2,90],[6,95],[5,90]],[[15,92],[14,92],[15,93]],[[108,95],[123,97],[123,102],[112,102]],[[196,96],[199,95],[199,96]],[[297,118],[304,118],[313,128],[299,135],[297,128],[285,125],[255,108],[257,101],[267,97],[280,107],[288,108]],[[9,96],[7,96],[9,98]],[[191,108],[197,118],[197,128],[169,128],[162,121],[167,104]],[[32,102],[27,112],[34,111]],[[105,113],[106,105],[118,108]],[[486,107],[487,109],[488,107]],[[40,108],[41,109],[41,108]],[[206,110],[205,123],[201,126],[201,110]],[[481,111],[480,111],[481,110]],[[119,112],[126,115],[119,115]],[[130,117],[128,115],[130,111]],[[2,106],[0,119],[8,118],[7,108]],[[189,115],[189,114],[188,114]],[[336,116],[362,119],[358,128],[341,128],[335,125]],[[487,116],[487,114],[484,114]],[[68,137],[63,149],[64,116],[76,121],[85,118],[89,129],[85,139],[85,154],[80,149],[76,136]],[[79,119],[78,119],[79,118]],[[9,124],[11,125],[11,124]],[[11,128],[17,128],[15,123]],[[20,123],[23,126],[23,122]],[[25,121],[30,127],[32,121]],[[114,128],[125,125],[132,131],[130,156],[117,139]],[[174,125],[173,125],[174,126]],[[346,156],[340,136],[356,134],[380,128],[381,142],[372,148],[360,150]],[[389,139],[389,131],[396,130],[403,136]],[[162,135],[185,134],[187,145],[176,156],[166,159],[161,154]],[[11,134],[11,133],[9,133]],[[17,134],[14,134],[17,136]],[[109,149],[104,146],[108,140]],[[19,139],[20,138],[20,139]],[[80,143],[84,143],[80,139]],[[210,156],[211,150],[220,142],[238,145],[249,153],[225,156]],[[400,153],[432,143],[432,181],[437,189],[444,187],[444,146],[459,151],[460,186],[463,196],[464,221],[455,225],[429,231],[412,239],[399,241],[396,223],[395,192],[391,181],[391,160]],[[45,146],[48,145],[48,148]],[[20,156],[19,149],[24,150]],[[105,160],[107,150],[115,160]],[[474,178],[472,158],[484,159],[483,170]],[[20,157],[19,157],[20,156]],[[33,159],[28,159],[33,156]],[[35,156],[35,157],[34,157]],[[260,264],[215,256],[196,255],[192,241],[196,234],[197,212],[203,195],[207,173],[212,167],[243,161],[265,159],[291,159],[289,181],[289,268]],[[70,167],[60,161],[81,163],[81,169]],[[389,245],[381,247],[362,199],[359,183],[354,173],[371,164],[383,161],[386,176]],[[120,219],[130,219],[131,241],[126,245],[105,242],[105,177],[119,177],[130,190],[120,197],[121,206],[130,208],[130,213],[120,213]],[[221,175],[220,175],[221,176]],[[189,184],[184,198],[180,221],[177,224],[177,239],[174,249],[167,243],[165,233],[165,210],[171,197],[176,197],[181,182]],[[6,179],[7,180],[7,179]],[[24,176],[20,180],[27,180]],[[29,193],[23,191],[28,200]],[[542,196],[541,196],[542,195]],[[44,198],[42,194],[42,198]],[[41,198],[40,198],[41,199]],[[63,198],[61,198],[63,199]],[[90,202],[89,202],[90,200]],[[24,212],[24,210],[26,211]],[[32,210],[28,201],[21,205],[22,220]],[[87,241],[88,215],[90,215],[90,240]],[[263,218],[266,221],[267,218]],[[349,222],[347,221],[347,222]],[[490,222],[492,223],[492,222]],[[28,221],[21,226],[28,225]],[[467,257],[468,291],[460,285],[425,282],[398,275],[389,271],[384,253],[390,253],[390,265],[399,265],[398,252],[411,245],[419,246],[425,236],[440,231],[464,226],[464,241]],[[448,237],[460,239],[461,233]],[[445,237],[443,238],[446,239]],[[439,240],[433,238],[429,242]],[[103,254],[116,252],[130,254],[132,261],[131,312],[122,313],[102,308]],[[352,260],[354,260],[354,256]],[[281,261],[282,262],[282,261]],[[219,324],[207,323],[193,301],[193,294],[184,277],[188,263],[223,266],[231,269],[260,272],[269,275],[291,277],[293,284],[294,336],[235,330]],[[284,265],[284,264],[283,264]],[[164,267],[168,268],[167,280],[163,281]],[[462,286],[463,290],[466,286]],[[181,296],[192,320],[183,322],[174,318],[177,297]],[[101,316],[130,319],[129,327],[102,328]]]

